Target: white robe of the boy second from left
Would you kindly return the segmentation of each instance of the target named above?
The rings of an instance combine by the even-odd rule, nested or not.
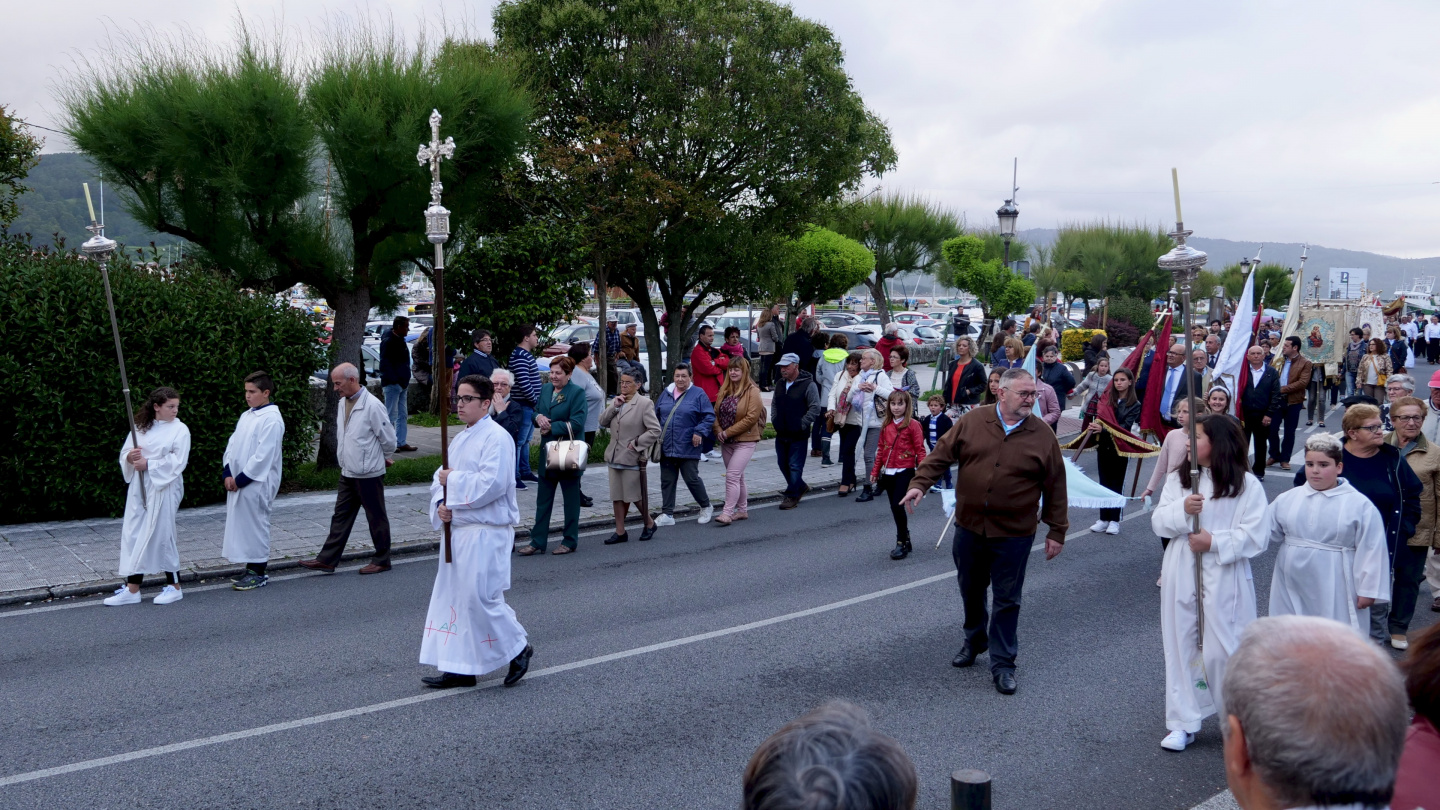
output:
[[[269,561],[269,510],[279,491],[281,441],[285,419],[274,404],[251,408],[225,445],[223,463],[232,477],[245,474],[249,483],[225,493],[225,545],[230,562]]]

